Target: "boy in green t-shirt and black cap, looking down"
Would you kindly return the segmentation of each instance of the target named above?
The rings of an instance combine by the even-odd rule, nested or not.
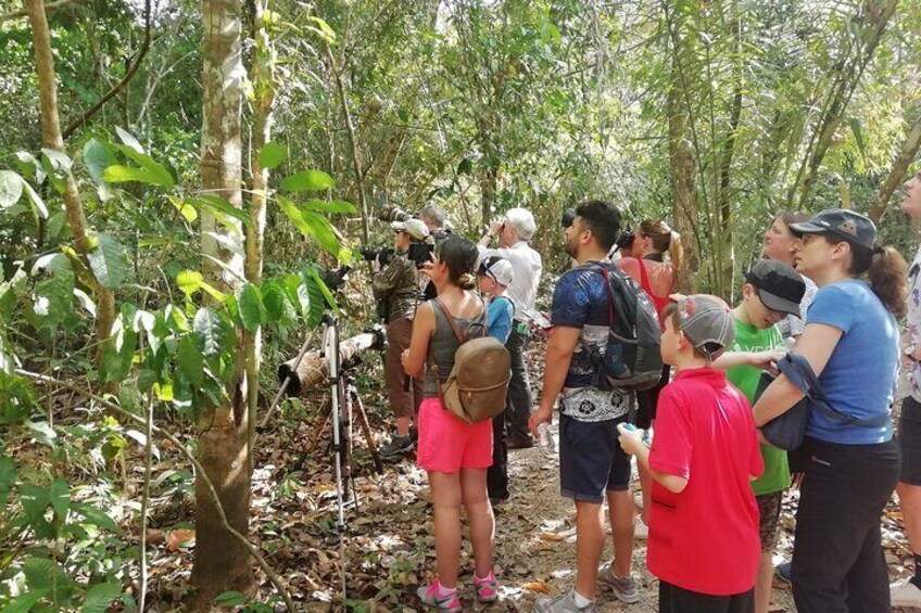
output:
[[[793,267],[762,259],[745,273],[742,302],[735,316],[735,341],[731,352],[784,350],[780,330],[774,325],[787,314],[799,316],[799,301],[806,284]],[[753,366],[735,366],[727,370],[727,379],[739,387],[753,405],[761,379],[761,370]],[[771,554],[777,545],[777,527],[783,491],[790,486],[786,451],[761,445],[765,472],[752,482],[761,512],[761,560],[755,582],[755,613],[768,613],[771,600]]]

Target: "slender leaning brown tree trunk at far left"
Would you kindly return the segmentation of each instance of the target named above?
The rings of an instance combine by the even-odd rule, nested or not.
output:
[[[61,120],[58,114],[58,84],[54,73],[54,58],[51,54],[51,35],[48,30],[48,18],[45,14],[42,0],[26,2],[29,23],[31,24],[33,44],[35,47],[35,65],[38,75],[39,103],[41,106],[41,144],[65,153],[64,139],[61,137]],[[84,205],[77,183],[68,173],[64,188],[64,207],[67,212],[67,225],[74,234],[77,251],[86,256],[90,251],[89,228],[84,215]],[[87,270],[91,270],[87,266]],[[101,365],[102,350],[112,334],[112,323],[115,321],[115,295],[103,288],[96,279],[96,335],[100,340],[97,359]],[[112,389],[110,389],[112,391]]]

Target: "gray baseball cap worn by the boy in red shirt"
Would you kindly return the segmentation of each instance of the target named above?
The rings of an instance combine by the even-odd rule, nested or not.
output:
[[[735,318],[722,299],[709,294],[680,296],[679,329],[710,361],[717,359],[735,339]]]

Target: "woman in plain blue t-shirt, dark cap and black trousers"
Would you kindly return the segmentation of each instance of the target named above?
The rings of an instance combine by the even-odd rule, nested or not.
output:
[[[818,411],[809,416],[794,600],[799,613],[888,613],[880,516],[899,472],[887,418],[907,267],[897,251],[876,246],[875,226],[853,210],[823,210],[791,229],[803,235],[796,269],[819,286],[794,353],[808,360],[835,410],[875,424],[845,423]],[[764,425],[803,396],[778,376],[755,404],[755,422]]]

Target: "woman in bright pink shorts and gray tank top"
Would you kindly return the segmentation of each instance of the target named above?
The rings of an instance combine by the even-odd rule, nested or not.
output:
[[[428,472],[431,486],[438,577],[420,587],[418,596],[422,604],[440,611],[462,611],[457,596],[462,507],[470,525],[477,599],[490,602],[497,598],[492,572],[495,520],[487,495],[487,469],[492,464],[492,422],[468,425],[446,411],[438,397],[436,379],[441,376],[442,383],[447,380],[458,346],[445,317],[452,317],[468,337],[485,333],[483,302],[470,292],[476,283],[477,257],[474,243],[451,237],[440,245],[434,260],[425,265],[422,273],[431,277],[438,289],[436,299],[447,314],[430,302],[420,305],[413,321],[413,340],[402,357],[406,374],[425,373],[417,458],[419,468]]]

